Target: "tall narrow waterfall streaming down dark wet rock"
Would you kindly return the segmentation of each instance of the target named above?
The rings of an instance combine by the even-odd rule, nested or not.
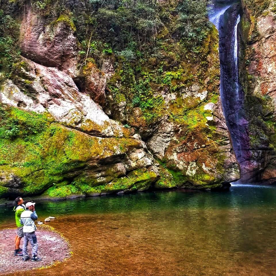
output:
[[[251,152],[243,91],[239,83],[240,3],[235,0],[213,1],[213,4],[208,7],[208,13],[209,20],[216,26],[219,34],[221,102],[242,176],[251,160]]]

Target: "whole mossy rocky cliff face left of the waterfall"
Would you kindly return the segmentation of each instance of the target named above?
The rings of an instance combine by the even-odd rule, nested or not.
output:
[[[22,3],[1,2],[1,22],[17,19],[19,50],[2,57],[0,197],[221,189],[239,179],[207,17],[191,48],[176,28],[178,3],[150,6],[163,21],[145,28],[152,23],[138,18],[126,37],[125,21],[101,20],[131,12],[127,4]]]

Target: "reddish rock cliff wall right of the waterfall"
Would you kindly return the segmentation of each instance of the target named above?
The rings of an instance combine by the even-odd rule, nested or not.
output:
[[[250,155],[241,181],[275,183],[275,5],[243,1],[240,77],[249,123]]]

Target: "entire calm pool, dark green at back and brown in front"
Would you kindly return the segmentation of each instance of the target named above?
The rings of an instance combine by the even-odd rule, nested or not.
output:
[[[0,229],[14,226],[0,208]],[[69,239],[65,262],[24,275],[276,275],[276,187],[38,202]],[[43,256],[41,256],[43,257]]]

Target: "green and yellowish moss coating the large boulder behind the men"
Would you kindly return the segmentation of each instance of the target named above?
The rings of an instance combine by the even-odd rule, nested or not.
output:
[[[51,123],[51,117],[47,114],[33,114],[17,108],[0,111],[3,118],[0,124],[2,130],[9,129],[11,127],[9,124],[16,125],[19,129],[19,132],[16,132],[12,138],[5,135],[0,137],[0,160],[3,160],[1,168],[5,174],[13,174],[21,179],[24,185],[22,188],[24,195],[42,193],[51,188],[53,183],[56,184],[55,189],[58,188],[56,193],[60,192],[62,195],[65,188],[60,187],[64,186],[66,183],[64,181],[68,178],[77,178],[74,177],[74,172],[82,171],[91,161],[117,155],[118,151],[124,154],[129,149],[140,147],[139,141],[135,139],[92,137],[60,124]],[[2,125],[2,123],[9,124]],[[28,132],[21,132],[23,128]],[[110,174],[109,181],[117,177],[116,172],[112,170],[107,173]],[[132,183],[146,182],[146,179],[151,178],[150,173],[144,172],[143,174],[143,181],[141,180],[143,177],[138,173],[129,178],[132,179]],[[104,182],[103,189],[112,192],[120,187],[127,187],[129,186],[128,179],[118,179],[116,183],[110,183],[109,186],[106,186]],[[84,176],[83,180],[79,182],[89,185],[91,189],[92,186],[98,185],[93,174]],[[69,188],[70,186],[65,190],[73,193],[73,190]],[[86,188],[82,187],[78,190],[85,192]],[[53,193],[49,196],[51,194]]]

